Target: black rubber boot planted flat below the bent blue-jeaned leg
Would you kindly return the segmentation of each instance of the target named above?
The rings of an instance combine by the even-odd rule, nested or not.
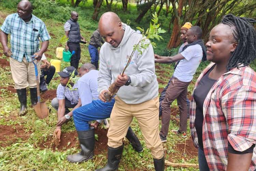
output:
[[[67,160],[72,163],[80,163],[83,161],[87,161],[89,159],[93,159],[94,156],[94,128],[91,127],[88,131],[77,131],[81,152],[68,155]]]

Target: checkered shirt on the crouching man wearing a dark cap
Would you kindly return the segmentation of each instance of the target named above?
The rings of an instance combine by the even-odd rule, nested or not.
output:
[[[62,100],[67,98],[71,104],[76,104],[79,99],[79,91],[77,83],[70,90],[68,87],[62,86],[61,84],[57,87],[57,99]]]

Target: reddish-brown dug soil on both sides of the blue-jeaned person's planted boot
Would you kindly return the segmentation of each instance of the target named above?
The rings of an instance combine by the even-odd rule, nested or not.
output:
[[[98,134],[98,141],[95,141],[94,153],[96,155],[101,154],[107,150],[108,137],[106,136],[108,130],[98,128],[95,130],[95,134]],[[40,148],[51,148],[55,151],[57,147],[59,150],[65,150],[72,147],[79,147],[79,140],[77,139],[76,131],[61,133],[60,142],[54,143],[53,137],[48,137],[46,141],[43,141],[38,145]]]

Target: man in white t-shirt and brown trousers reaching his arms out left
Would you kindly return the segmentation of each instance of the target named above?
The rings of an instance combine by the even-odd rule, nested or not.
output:
[[[171,79],[171,83],[166,91],[165,99],[162,101],[162,127],[160,131],[160,138],[162,142],[167,141],[167,134],[169,130],[171,103],[177,99],[180,109],[180,128],[173,130],[176,134],[181,134],[186,138],[187,131],[187,87],[193,75],[201,62],[203,56],[206,56],[205,46],[201,39],[202,29],[198,26],[191,27],[187,31],[188,44],[183,47],[183,51],[175,56],[159,56],[155,55],[155,62],[157,63],[172,63],[179,61]]]

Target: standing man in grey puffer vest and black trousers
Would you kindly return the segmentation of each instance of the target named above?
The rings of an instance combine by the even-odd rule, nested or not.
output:
[[[71,56],[70,65],[78,68],[79,60],[81,58],[80,41],[85,41],[84,37],[80,33],[80,27],[78,20],[78,13],[75,11],[71,12],[70,19],[65,23],[64,30],[66,37],[69,38],[66,43],[66,51],[75,51],[75,54]]]

